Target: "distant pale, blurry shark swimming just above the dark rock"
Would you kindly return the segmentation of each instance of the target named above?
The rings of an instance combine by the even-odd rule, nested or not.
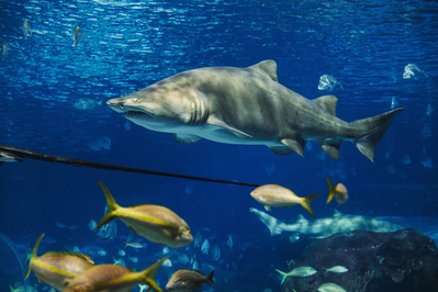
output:
[[[305,234],[325,238],[336,233],[348,233],[352,231],[368,231],[374,233],[390,233],[403,229],[404,227],[390,223],[388,221],[360,216],[344,215],[335,210],[329,217],[308,221],[303,215],[299,215],[295,223],[285,224],[267,213],[250,207],[254,213],[268,228],[271,236],[280,235],[282,232],[292,232],[295,234]]]

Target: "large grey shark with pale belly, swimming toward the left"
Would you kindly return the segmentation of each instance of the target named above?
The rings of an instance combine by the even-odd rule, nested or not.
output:
[[[335,96],[308,100],[280,85],[270,59],[247,68],[182,71],[106,104],[137,125],[173,134],[178,143],[266,145],[278,155],[304,157],[305,143],[313,141],[338,160],[341,143],[349,141],[371,161],[375,145],[404,110],[345,122],[336,116]]]

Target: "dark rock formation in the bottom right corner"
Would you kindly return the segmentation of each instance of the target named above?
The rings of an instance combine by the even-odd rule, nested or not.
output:
[[[406,228],[392,233],[353,231],[314,240],[290,270],[310,266],[312,277],[285,279],[282,292],[316,292],[327,282],[346,291],[438,292],[438,248],[420,232]],[[326,272],[342,266],[347,272]]]

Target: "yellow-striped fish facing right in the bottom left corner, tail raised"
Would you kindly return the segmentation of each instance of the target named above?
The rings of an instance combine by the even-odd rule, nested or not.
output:
[[[32,270],[40,282],[63,291],[71,279],[94,267],[91,258],[80,252],[48,251],[37,257],[36,251],[43,237],[44,234],[36,240],[24,279]]]

